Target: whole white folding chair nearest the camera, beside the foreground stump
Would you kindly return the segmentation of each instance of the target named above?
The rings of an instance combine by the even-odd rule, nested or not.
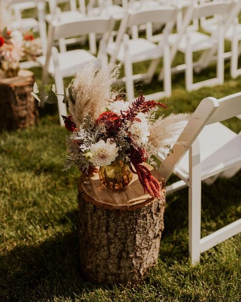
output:
[[[220,121],[241,113],[241,92],[220,99],[204,98],[177,143],[162,162],[160,174],[167,181],[174,172],[181,180],[167,186],[167,193],[189,187],[189,252],[192,263],[200,253],[241,231],[241,219],[201,238],[201,182],[214,175],[231,177],[241,168],[241,132],[239,135]],[[226,174],[225,174],[226,173]]]

